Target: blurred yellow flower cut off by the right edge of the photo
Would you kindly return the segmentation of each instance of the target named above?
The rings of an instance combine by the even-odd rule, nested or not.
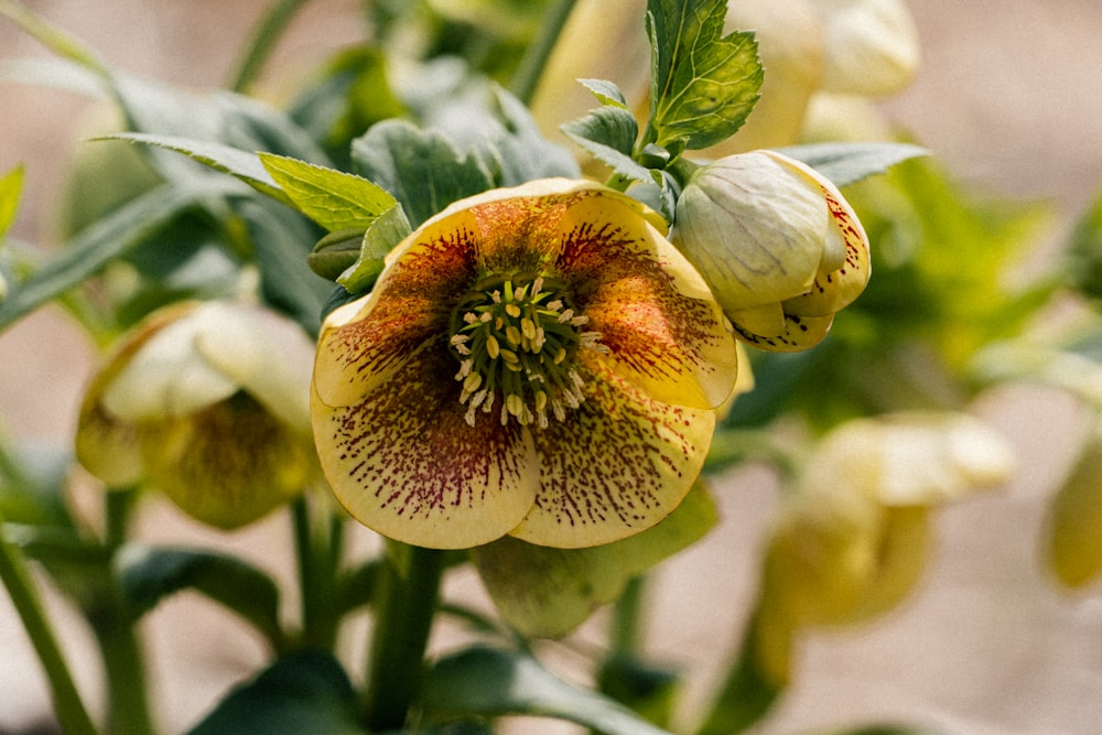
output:
[[[1088,437],[1052,504],[1049,563],[1069,587],[1102,573],[1102,426]]]

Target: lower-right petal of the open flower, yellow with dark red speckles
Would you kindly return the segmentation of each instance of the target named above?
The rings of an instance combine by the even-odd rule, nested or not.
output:
[[[533,432],[539,495],[510,532],[558,548],[609,543],[669,516],[692,487],[715,412],[647,397],[594,364],[586,400],[569,421]]]

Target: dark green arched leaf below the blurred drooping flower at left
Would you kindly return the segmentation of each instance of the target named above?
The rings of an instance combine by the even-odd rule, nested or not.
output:
[[[129,543],[116,556],[115,572],[134,619],[173,593],[195,590],[244,617],[273,644],[282,640],[279,587],[236,556]]]

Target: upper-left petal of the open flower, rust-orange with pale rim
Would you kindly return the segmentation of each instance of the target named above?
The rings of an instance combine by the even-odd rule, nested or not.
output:
[[[475,228],[466,212],[426,223],[388,256],[371,293],[328,315],[314,364],[324,403],[359,402],[446,331],[452,305],[475,279]]]

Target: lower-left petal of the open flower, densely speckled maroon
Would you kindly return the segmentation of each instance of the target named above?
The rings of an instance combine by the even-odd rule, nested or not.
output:
[[[353,517],[398,541],[463,549],[500,538],[531,508],[536,452],[515,422],[464,421],[455,363],[441,344],[331,407],[314,391],[317,454]],[[486,417],[487,419],[491,417]]]

